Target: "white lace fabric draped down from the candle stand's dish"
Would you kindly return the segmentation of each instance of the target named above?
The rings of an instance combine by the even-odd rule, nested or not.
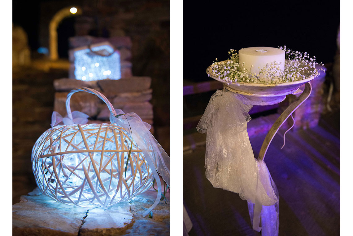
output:
[[[253,229],[273,225],[272,211],[264,206],[278,205],[278,193],[263,161],[257,161],[247,134],[247,122],[251,119],[251,102],[244,96],[228,91],[217,90],[197,125],[197,130],[207,134],[206,177],[215,188],[239,193],[243,200],[255,204],[252,215]],[[278,214],[278,207],[275,209]],[[278,217],[277,217],[278,225]],[[272,227],[272,226],[271,226]],[[278,227],[277,227],[278,228]],[[272,232],[272,231],[271,231]],[[278,234],[278,230],[277,230]]]

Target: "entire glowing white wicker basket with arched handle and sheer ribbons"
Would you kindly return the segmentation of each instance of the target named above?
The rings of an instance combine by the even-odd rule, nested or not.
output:
[[[88,116],[70,109],[70,98],[76,92],[101,98],[115,123],[85,124]],[[43,194],[68,205],[109,207],[150,189],[156,178],[159,200],[161,182],[157,170],[163,165],[169,182],[169,157],[150,138],[147,123],[134,113],[115,118],[116,111],[121,110],[114,110],[101,93],[84,87],[67,95],[66,109],[65,118],[53,113],[53,127],[38,138],[32,149],[32,170]],[[61,121],[64,125],[60,125]],[[168,157],[167,161],[160,161],[161,153],[163,158]]]

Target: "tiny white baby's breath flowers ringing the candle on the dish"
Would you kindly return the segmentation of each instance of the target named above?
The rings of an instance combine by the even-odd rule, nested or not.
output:
[[[284,70],[280,70],[280,64],[276,61],[265,65],[263,68],[258,67],[257,70],[252,71],[253,65],[250,70],[247,70],[243,65],[239,64],[239,54],[234,49],[229,50],[228,54],[230,58],[226,61],[216,61],[212,64],[212,74],[218,76],[229,83],[285,83],[293,82],[315,76],[316,69],[315,56],[309,57],[309,53],[294,52],[287,49],[286,46],[279,47],[286,52],[286,63]],[[320,63],[322,64],[322,62]],[[319,69],[319,71],[322,69]],[[323,70],[324,71],[324,70]],[[325,71],[324,71],[325,72]],[[319,75],[319,72],[318,72]],[[208,74],[210,76],[210,74]]]

